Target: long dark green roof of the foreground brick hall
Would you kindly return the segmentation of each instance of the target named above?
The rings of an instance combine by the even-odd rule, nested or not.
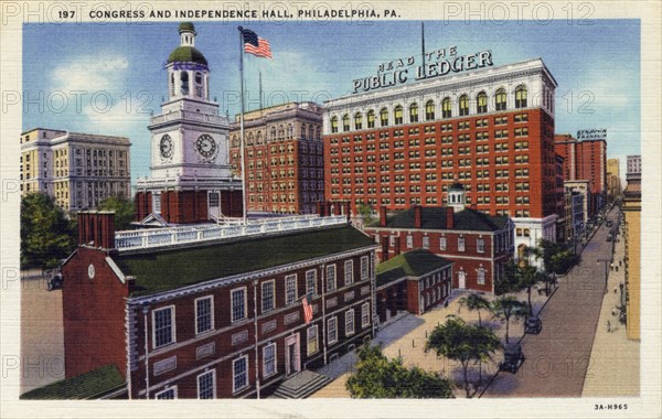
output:
[[[344,225],[113,259],[136,278],[132,294],[143,296],[369,246],[374,246],[370,237]]]

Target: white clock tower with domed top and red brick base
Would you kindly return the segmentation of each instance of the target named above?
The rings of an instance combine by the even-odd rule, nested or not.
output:
[[[179,25],[168,57],[168,99],[151,118],[151,175],[136,183],[136,218],[178,225],[238,217],[241,180],[231,174],[228,121],[210,100],[210,68],[195,49],[193,23]]]

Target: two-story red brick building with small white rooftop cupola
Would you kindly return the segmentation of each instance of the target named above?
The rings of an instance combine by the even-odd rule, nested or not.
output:
[[[376,254],[381,261],[423,248],[455,264],[453,289],[494,292],[504,264],[514,254],[515,227],[506,216],[465,207],[461,185],[451,185],[449,192],[452,206],[415,205],[391,213],[382,206],[380,219],[366,225],[365,233],[380,244]]]

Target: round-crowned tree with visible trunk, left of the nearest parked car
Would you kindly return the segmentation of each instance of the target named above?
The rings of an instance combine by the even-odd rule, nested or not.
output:
[[[462,365],[465,391],[469,390],[469,363],[482,362],[501,347],[501,342],[490,329],[467,324],[456,315],[449,315],[446,323],[436,326],[425,343],[425,351],[435,351],[437,356],[458,361]]]

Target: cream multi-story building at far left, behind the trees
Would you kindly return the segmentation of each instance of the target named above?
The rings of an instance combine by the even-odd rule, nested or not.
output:
[[[21,193],[45,192],[66,211],[130,196],[128,138],[34,128],[21,133]]]

